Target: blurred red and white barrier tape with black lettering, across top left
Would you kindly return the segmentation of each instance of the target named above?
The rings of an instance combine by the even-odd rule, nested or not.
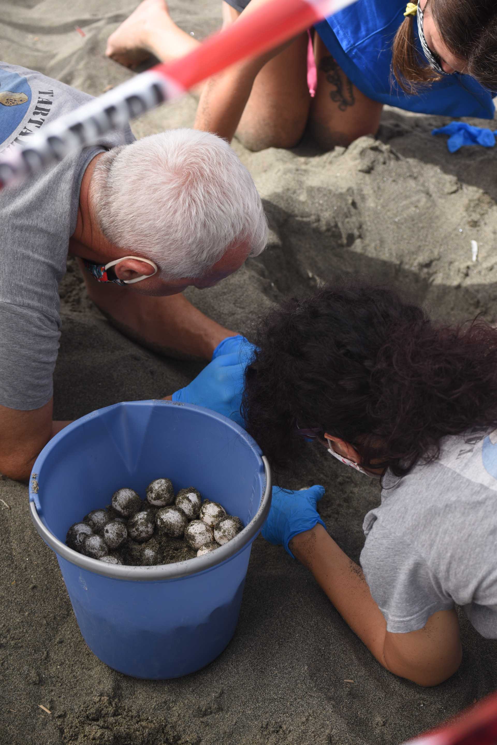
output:
[[[47,124],[22,148],[0,156],[0,188],[88,147],[132,118],[177,98],[211,75],[256,57],[292,39],[326,16],[355,0],[271,0],[218,34],[205,39],[190,54],[160,64],[104,93],[88,104]]]

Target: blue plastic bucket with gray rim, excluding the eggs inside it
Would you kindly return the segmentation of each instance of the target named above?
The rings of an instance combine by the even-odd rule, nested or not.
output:
[[[196,486],[245,528],[203,557],[150,567],[110,565],[65,545],[68,527],[130,486]],[[30,507],[57,554],[86,644],[111,668],[174,678],[208,665],[234,634],[251,544],[271,504],[269,465],[254,440],[214,411],[169,401],[116,404],[77,419],[33,467]]]

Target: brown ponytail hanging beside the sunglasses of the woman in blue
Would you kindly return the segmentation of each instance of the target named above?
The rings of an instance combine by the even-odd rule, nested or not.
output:
[[[415,95],[420,86],[440,80],[440,75],[424,65],[417,52],[413,24],[416,16],[406,16],[392,43],[392,64],[395,80],[405,93]]]

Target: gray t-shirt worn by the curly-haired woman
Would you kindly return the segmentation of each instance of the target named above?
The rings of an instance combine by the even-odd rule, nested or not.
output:
[[[456,603],[497,638],[497,430],[446,437],[437,460],[383,486],[361,565],[387,630],[421,629]]]

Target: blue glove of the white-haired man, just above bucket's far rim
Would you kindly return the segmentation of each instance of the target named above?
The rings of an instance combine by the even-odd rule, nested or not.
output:
[[[240,413],[243,376],[253,349],[244,337],[222,340],[214,349],[212,361],[190,384],[173,393],[173,401],[205,406],[228,416],[241,427],[245,426]],[[228,354],[224,353],[225,350]]]

